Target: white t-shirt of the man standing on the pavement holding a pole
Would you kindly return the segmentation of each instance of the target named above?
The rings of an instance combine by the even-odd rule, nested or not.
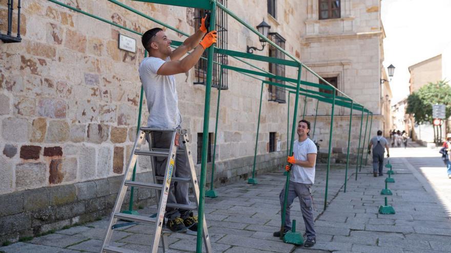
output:
[[[303,142],[296,140],[293,145],[294,158],[296,160],[306,161],[307,154],[316,154],[318,150],[316,149],[315,143],[307,138]],[[299,183],[315,183],[315,165],[313,168],[304,168],[300,165],[294,164],[291,171],[292,177],[290,181]]]

